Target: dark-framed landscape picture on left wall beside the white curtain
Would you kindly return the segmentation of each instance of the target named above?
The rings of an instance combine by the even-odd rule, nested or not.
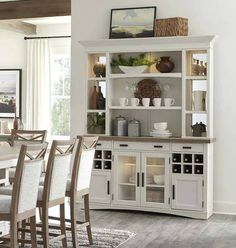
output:
[[[0,118],[21,117],[21,69],[0,69]]]

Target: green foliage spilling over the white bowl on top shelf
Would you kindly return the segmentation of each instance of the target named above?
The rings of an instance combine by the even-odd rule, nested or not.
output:
[[[157,60],[149,60],[145,58],[145,54],[140,54],[138,57],[129,57],[124,58],[121,54],[118,55],[118,59],[112,59],[111,66],[141,66],[141,65],[147,65],[150,66],[152,64],[155,64]]]

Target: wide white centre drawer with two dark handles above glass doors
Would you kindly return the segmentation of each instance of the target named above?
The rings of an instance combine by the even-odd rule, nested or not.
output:
[[[169,151],[168,143],[149,143],[149,142],[122,142],[115,141],[114,149],[126,150],[148,150],[148,151]]]

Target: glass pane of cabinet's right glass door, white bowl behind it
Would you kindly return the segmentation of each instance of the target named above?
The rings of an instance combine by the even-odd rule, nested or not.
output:
[[[146,158],[146,202],[164,203],[165,158]]]

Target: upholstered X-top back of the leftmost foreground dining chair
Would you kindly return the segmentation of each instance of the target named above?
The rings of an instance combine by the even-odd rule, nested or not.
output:
[[[15,211],[15,214],[36,208],[41,167],[47,145],[43,143],[21,146],[13,184],[12,211]]]

